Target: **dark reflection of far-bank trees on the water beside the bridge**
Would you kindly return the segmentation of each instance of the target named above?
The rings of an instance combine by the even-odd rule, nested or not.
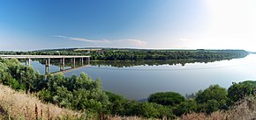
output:
[[[186,63],[208,63],[219,61],[211,60],[143,60],[143,61],[91,61],[93,66],[109,66],[109,67],[134,67],[134,66],[161,66],[161,65],[182,65]]]

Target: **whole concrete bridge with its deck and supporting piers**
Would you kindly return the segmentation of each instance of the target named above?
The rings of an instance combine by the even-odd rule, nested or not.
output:
[[[64,69],[65,60],[70,59],[72,61],[72,65],[76,66],[76,59],[79,59],[81,65],[84,65],[84,61],[87,62],[87,65],[90,64],[91,56],[78,56],[78,55],[0,55],[0,58],[4,59],[18,59],[18,60],[26,60],[26,66],[30,66],[31,59],[44,59],[45,60],[45,74],[49,74],[49,65],[51,59],[59,59],[60,60],[60,71],[66,71]]]

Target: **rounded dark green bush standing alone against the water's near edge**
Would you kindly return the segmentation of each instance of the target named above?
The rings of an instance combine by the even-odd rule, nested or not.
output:
[[[149,95],[148,102],[155,102],[158,104],[173,106],[184,102],[184,96],[175,92],[160,92]]]

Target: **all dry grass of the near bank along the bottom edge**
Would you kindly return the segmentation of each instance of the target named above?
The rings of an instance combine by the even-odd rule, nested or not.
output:
[[[50,103],[41,102],[34,95],[26,95],[0,84],[0,119],[96,119],[80,111],[59,108]],[[230,110],[218,110],[207,115],[205,113],[188,113],[177,120],[240,120],[256,117],[256,101],[253,97],[246,97],[237,102]],[[109,120],[146,120],[139,116],[106,116]]]

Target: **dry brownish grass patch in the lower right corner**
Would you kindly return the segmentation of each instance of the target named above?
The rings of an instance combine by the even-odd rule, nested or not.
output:
[[[256,101],[253,97],[246,97],[237,102],[237,105],[227,111],[216,111],[211,115],[204,113],[190,113],[179,118],[180,120],[256,120]]]

